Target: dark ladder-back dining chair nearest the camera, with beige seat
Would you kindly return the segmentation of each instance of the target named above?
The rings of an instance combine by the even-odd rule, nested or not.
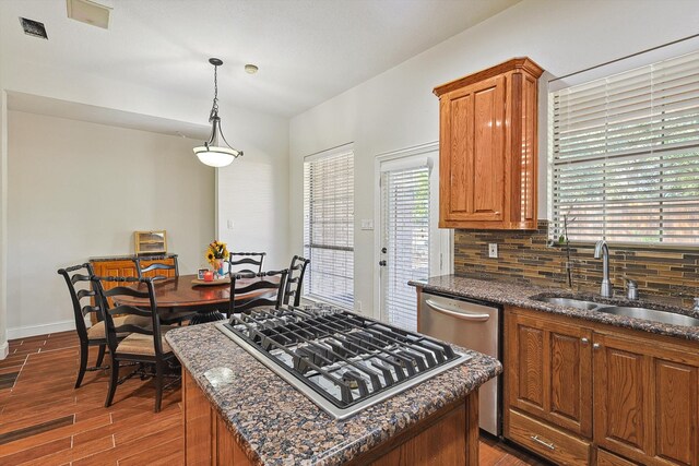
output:
[[[105,290],[102,286],[104,282],[119,282],[115,288]],[[154,373],[141,373],[141,377],[152,375],[155,378],[155,413],[161,410],[163,399],[164,380],[166,365],[176,362],[173,349],[165,340],[165,334],[171,330],[170,326],[161,325],[157,313],[157,301],[155,298],[154,278],[135,277],[94,277],[93,284],[98,290],[102,301],[107,302],[111,298],[115,306],[105,311],[105,323],[107,328],[107,345],[111,353],[111,377],[109,379],[109,391],[105,407],[111,405],[114,395],[123,379],[119,379],[119,367],[121,362],[135,362],[149,365],[154,368]],[[141,291],[129,285],[137,283],[145,284],[146,290]],[[135,307],[119,304],[120,296],[135,298],[147,298],[149,306]],[[134,316],[145,319],[145,324],[134,324],[132,322],[120,322],[120,316]],[[125,338],[119,338],[120,334],[128,333]]]

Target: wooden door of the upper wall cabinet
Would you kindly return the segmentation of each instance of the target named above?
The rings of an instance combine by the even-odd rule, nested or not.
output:
[[[440,99],[440,224],[503,220],[505,95],[500,75]]]

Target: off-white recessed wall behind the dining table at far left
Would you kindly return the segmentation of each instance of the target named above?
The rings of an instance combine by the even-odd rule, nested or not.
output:
[[[73,327],[56,271],[133,253],[133,231],[166,229],[181,273],[214,235],[214,169],[192,141],[9,111],[10,338]]]

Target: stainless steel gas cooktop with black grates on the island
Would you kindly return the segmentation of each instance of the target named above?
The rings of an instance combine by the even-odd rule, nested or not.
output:
[[[471,359],[443,342],[328,304],[256,309],[216,326],[337,419]]]

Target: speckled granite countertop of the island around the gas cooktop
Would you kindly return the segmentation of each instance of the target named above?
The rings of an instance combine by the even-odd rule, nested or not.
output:
[[[472,359],[339,421],[214,325],[174,328],[166,338],[257,465],[343,464],[502,371],[496,359],[459,348]]]

